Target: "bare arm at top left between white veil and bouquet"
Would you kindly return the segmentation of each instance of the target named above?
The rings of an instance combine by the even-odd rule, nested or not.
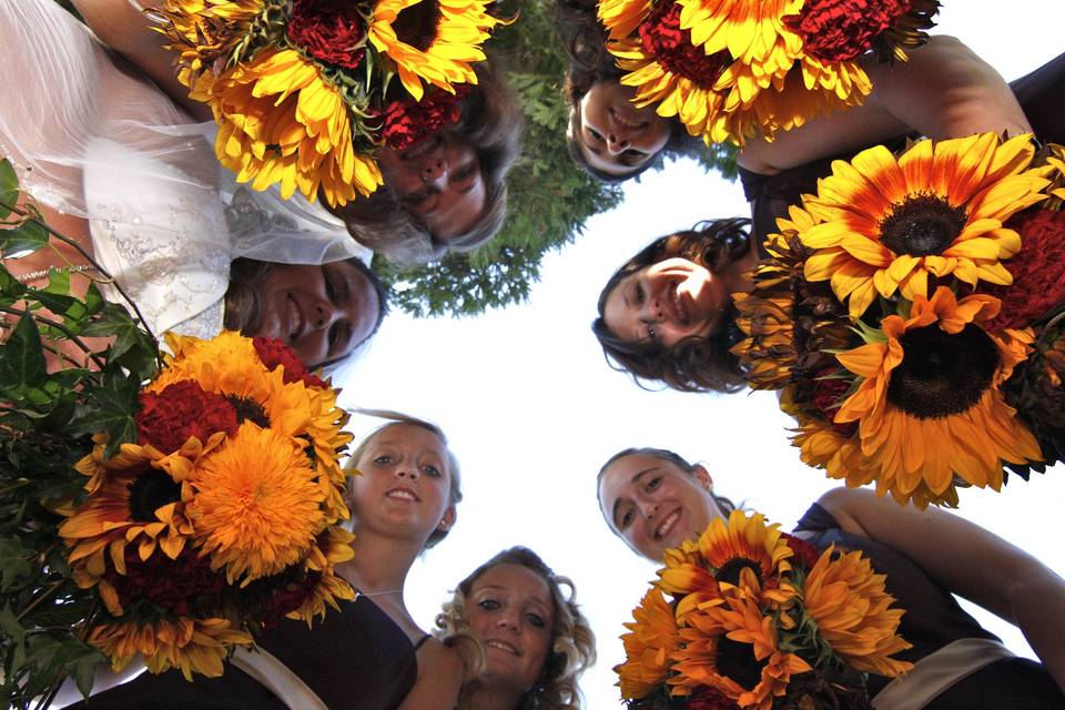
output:
[[[178,81],[174,54],[163,49],[165,39],[151,29],[152,21],[130,0],[72,0],[78,12],[100,40],[120,52],[152,78],[197,121],[210,121],[206,104],[189,99],[189,89]]]

